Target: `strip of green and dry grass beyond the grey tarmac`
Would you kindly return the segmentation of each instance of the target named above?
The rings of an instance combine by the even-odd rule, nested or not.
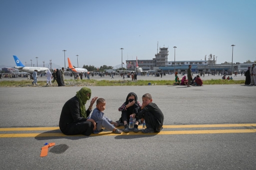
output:
[[[0,81],[0,87],[34,87],[31,83],[32,81]],[[149,81],[149,80],[139,80],[139,81],[106,81],[106,80],[65,80],[67,87],[72,86],[147,86],[148,83],[151,85],[173,85],[174,81],[161,80],[161,81]],[[205,80],[203,85],[213,85],[213,84],[244,84],[244,80]],[[37,81],[38,86],[46,86],[46,81]],[[57,82],[53,83],[52,86],[57,87]]]

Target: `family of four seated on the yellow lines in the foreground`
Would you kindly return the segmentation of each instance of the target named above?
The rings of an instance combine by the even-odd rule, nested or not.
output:
[[[106,100],[104,98],[94,97],[91,99],[90,106],[86,110],[85,104],[91,98],[91,89],[83,87],[76,92],[73,98],[70,98],[63,106],[59,127],[62,133],[66,135],[98,134],[104,127],[115,134],[121,134],[122,131],[117,127],[120,123],[124,124],[124,132],[129,132],[128,120],[130,116],[136,118],[133,128],[134,132],[138,132],[138,124],[145,120],[146,129],[142,133],[160,132],[164,123],[164,115],[162,111],[152,101],[149,93],[142,96],[142,104],[137,101],[137,95],[133,92],[129,93],[126,101],[119,107],[121,117],[119,121],[114,122],[103,111],[106,108]],[[96,108],[93,104],[96,101]],[[91,113],[92,111],[92,113]],[[91,114],[91,116],[90,116]]]

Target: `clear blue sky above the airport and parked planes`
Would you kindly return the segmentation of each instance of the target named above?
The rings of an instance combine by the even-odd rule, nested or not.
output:
[[[233,63],[255,61],[255,9],[256,0],[0,0],[0,65],[17,55],[27,66],[115,66],[152,60],[157,42],[168,61],[176,46],[176,61],[231,62],[231,45]]]

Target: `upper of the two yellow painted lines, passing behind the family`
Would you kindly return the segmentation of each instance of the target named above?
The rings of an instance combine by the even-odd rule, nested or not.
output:
[[[203,128],[203,127],[247,127],[256,126],[256,124],[212,124],[212,125],[163,125],[163,128]],[[142,125],[138,126],[142,128]],[[119,128],[123,128],[120,126]],[[43,130],[60,130],[59,127],[10,127],[0,128],[0,131],[43,131]]]

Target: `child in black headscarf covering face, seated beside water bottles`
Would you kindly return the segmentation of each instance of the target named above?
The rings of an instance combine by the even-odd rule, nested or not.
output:
[[[119,107],[119,111],[122,112],[121,118],[119,121],[124,123],[124,132],[129,132],[129,127],[127,122],[129,121],[130,116],[132,118],[136,118],[136,123],[134,125],[133,131],[138,132],[138,117],[137,113],[139,112],[139,109],[141,107],[141,104],[137,101],[137,95],[133,92],[129,93],[126,97],[126,101],[123,103],[121,107]]]

